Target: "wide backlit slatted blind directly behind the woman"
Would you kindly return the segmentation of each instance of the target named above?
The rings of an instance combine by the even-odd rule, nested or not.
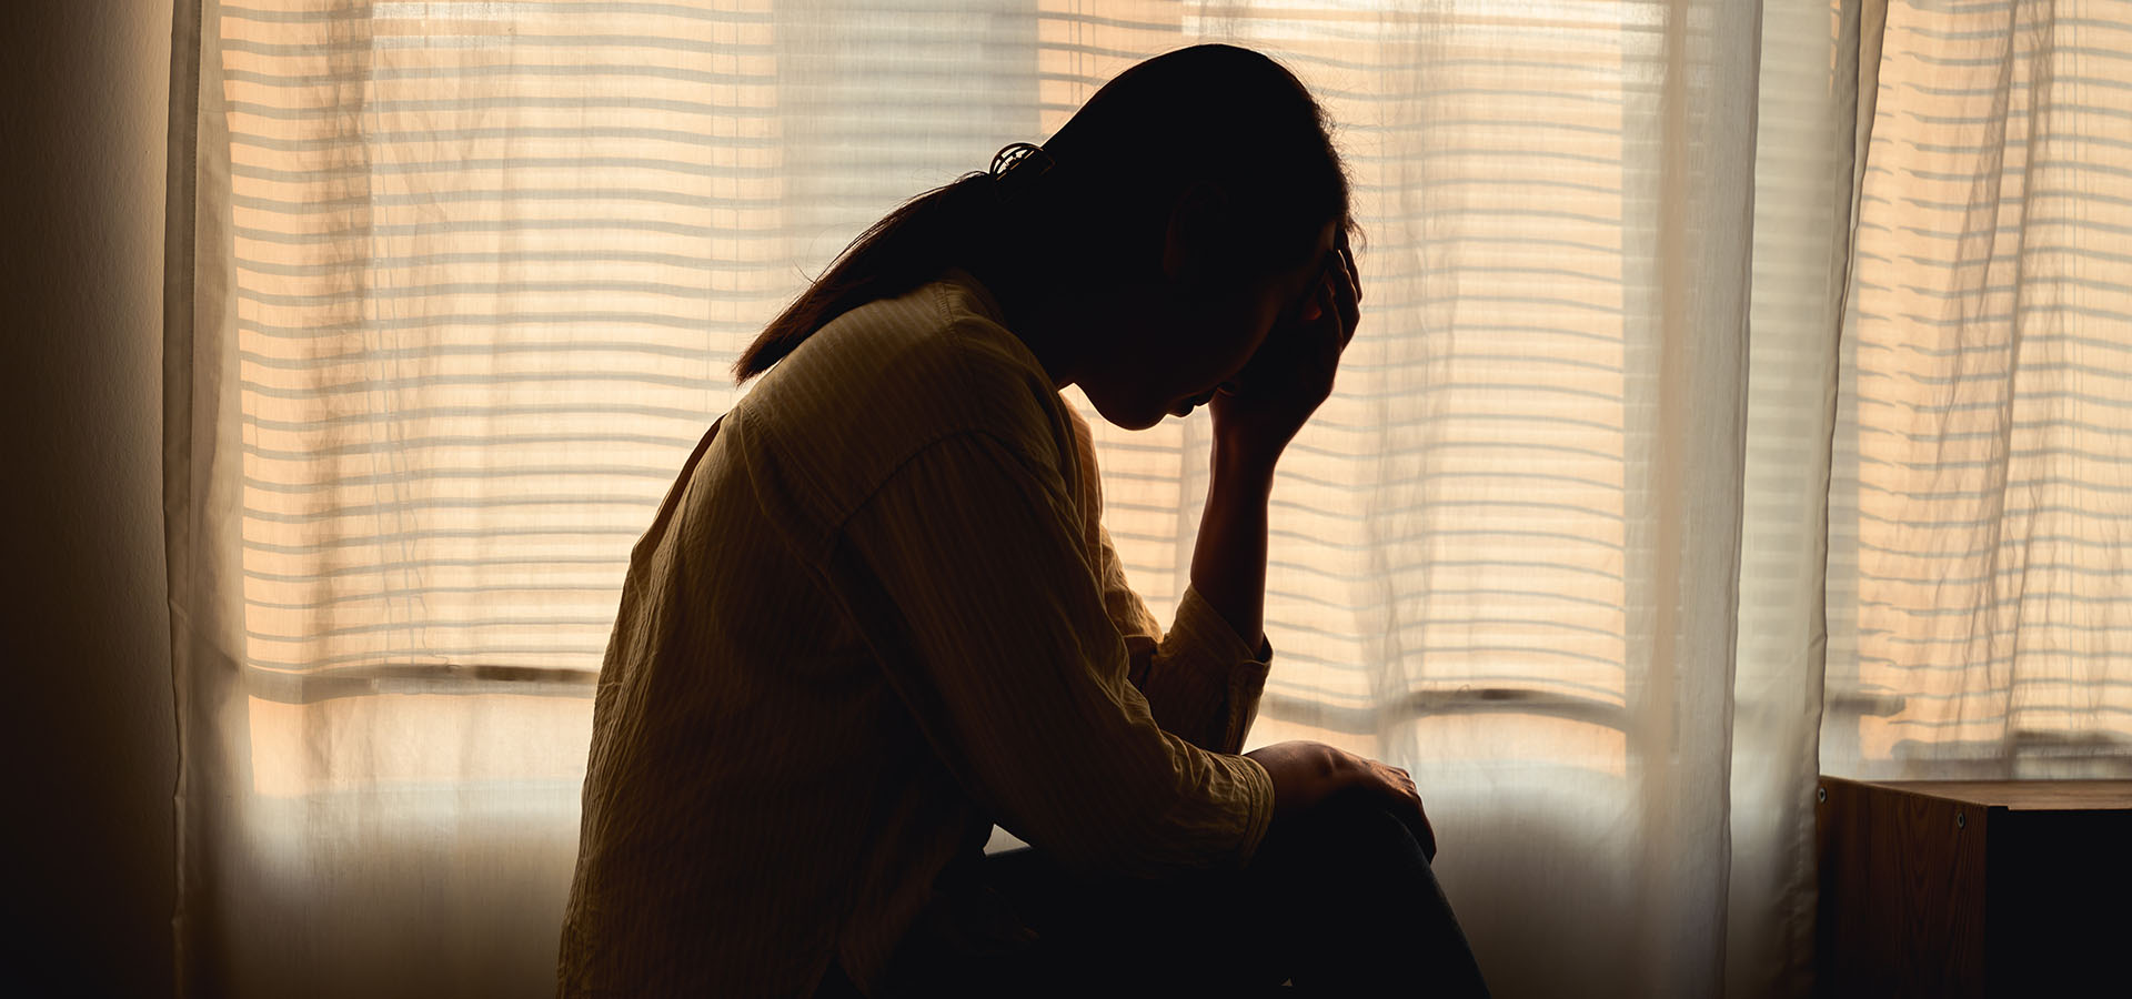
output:
[[[1241,40],[1326,98],[1369,232],[1362,337],[1275,496],[1269,716],[1509,707],[1533,728],[1437,750],[1620,771],[1659,149],[1695,128],[1663,117],[1659,9],[222,11],[252,667],[597,669],[631,541],[808,275],[1138,58]],[[1164,616],[1205,417],[1098,441]]]

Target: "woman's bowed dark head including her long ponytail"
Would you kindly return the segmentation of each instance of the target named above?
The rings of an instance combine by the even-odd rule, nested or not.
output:
[[[1079,381],[1111,422],[1149,426],[1234,375],[1352,226],[1324,113],[1249,49],[1141,62],[1043,149],[1051,168],[1017,177],[1011,198],[970,175],[885,217],[736,373],[768,369],[842,311],[964,266],[1060,381]]]

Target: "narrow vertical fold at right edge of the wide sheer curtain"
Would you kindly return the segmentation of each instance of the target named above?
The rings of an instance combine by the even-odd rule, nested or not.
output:
[[[1727,995],[1806,995],[1827,648],[1829,435],[1880,4],[1767,2],[1755,141]]]

